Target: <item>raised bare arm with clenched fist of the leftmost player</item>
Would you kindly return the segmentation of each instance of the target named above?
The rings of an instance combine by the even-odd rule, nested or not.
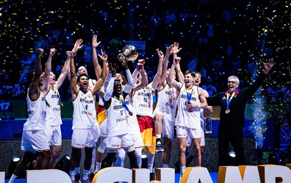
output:
[[[41,65],[42,53],[43,53],[43,49],[39,48],[37,51],[37,61],[35,65],[34,78],[28,90],[28,96],[33,101],[37,100],[40,95],[39,81],[40,81],[40,75],[42,74],[42,65]]]

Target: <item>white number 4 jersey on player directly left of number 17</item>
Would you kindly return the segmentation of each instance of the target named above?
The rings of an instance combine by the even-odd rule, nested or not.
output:
[[[90,129],[97,125],[95,99],[91,90],[87,90],[87,93],[79,90],[73,106],[72,129]]]

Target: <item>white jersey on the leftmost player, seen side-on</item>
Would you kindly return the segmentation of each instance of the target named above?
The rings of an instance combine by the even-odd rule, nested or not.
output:
[[[28,89],[29,90],[29,89]],[[28,92],[26,96],[28,119],[23,125],[23,130],[45,130],[46,103],[45,95],[40,91],[36,101],[31,101]]]

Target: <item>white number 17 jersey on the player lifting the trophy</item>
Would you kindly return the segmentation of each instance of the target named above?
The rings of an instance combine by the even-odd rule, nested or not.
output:
[[[120,96],[120,98],[123,100],[123,96]],[[105,109],[105,114],[107,116],[107,137],[123,135],[129,132],[127,118],[131,116],[119,100],[111,97],[110,107]]]

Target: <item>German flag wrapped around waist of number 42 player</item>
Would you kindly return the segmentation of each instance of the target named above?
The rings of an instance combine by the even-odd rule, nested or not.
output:
[[[140,135],[142,136],[144,151],[150,151],[152,154],[155,154],[156,151],[156,132],[155,132],[155,123],[154,119],[149,116],[137,117],[139,124]]]

